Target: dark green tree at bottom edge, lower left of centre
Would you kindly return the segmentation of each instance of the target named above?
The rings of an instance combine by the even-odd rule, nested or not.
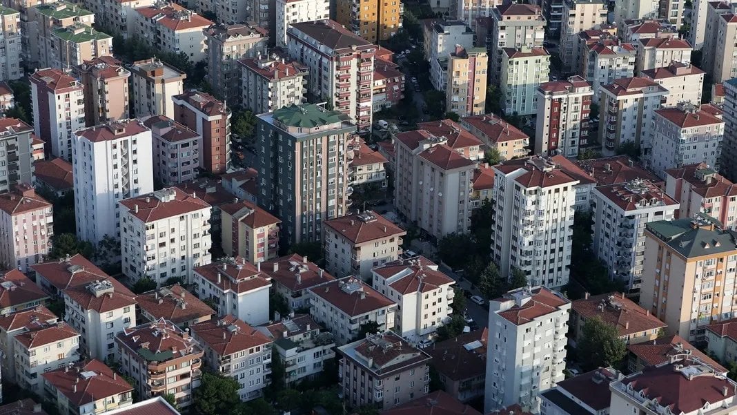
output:
[[[227,414],[240,402],[240,385],[232,377],[203,372],[200,387],[194,391],[195,411],[200,415]]]

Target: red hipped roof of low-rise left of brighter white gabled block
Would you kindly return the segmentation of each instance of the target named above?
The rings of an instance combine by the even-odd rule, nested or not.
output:
[[[318,296],[349,317],[356,317],[393,306],[395,303],[377,290],[366,285],[360,279],[346,276],[342,279],[327,282],[319,287],[310,288],[314,296]]]

